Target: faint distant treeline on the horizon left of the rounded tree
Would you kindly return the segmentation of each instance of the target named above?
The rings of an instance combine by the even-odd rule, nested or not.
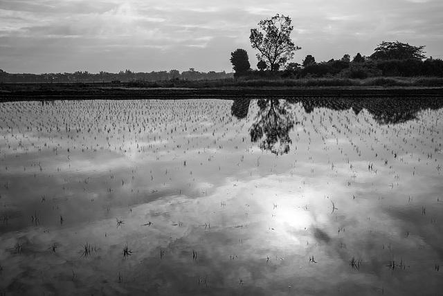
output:
[[[0,69],[1,82],[36,82],[36,83],[61,83],[61,82],[131,82],[131,81],[165,81],[165,80],[221,80],[232,78],[233,73],[221,72],[199,72],[194,68],[189,71],[179,72],[177,70],[158,72],[132,72],[130,70],[119,73],[89,73],[88,71],[77,71],[74,73],[7,73]]]

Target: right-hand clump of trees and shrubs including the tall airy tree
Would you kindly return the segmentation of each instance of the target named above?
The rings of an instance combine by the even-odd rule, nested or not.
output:
[[[235,77],[244,79],[300,79],[300,78],[332,78],[336,79],[367,79],[370,77],[443,77],[442,59],[426,59],[425,46],[413,46],[399,41],[382,41],[369,57],[356,53],[351,60],[349,54],[340,59],[330,59],[327,62],[316,62],[312,55],[307,55],[302,64],[289,62],[294,51],[300,47],[291,40],[291,18],[275,15],[258,23],[260,29],[251,29],[251,46],[258,50],[257,68],[242,72],[236,70],[236,65],[249,64],[248,55],[242,55],[231,62]],[[239,48],[238,52],[242,50]],[[246,51],[246,50],[244,50]],[[231,53],[233,55],[233,53]]]

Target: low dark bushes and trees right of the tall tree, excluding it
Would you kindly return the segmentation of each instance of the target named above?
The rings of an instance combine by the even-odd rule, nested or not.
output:
[[[290,62],[279,71],[260,60],[257,63],[259,70],[249,69],[235,76],[243,76],[244,80],[328,78],[335,82],[340,79],[365,80],[375,77],[443,77],[443,60],[433,57],[426,59],[423,48],[399,41],[383,41],[369,57],[357,53],[351,60],[350,55],[345,54],[340,59],[316,62],[314,56],[307,55],[302,64]]]

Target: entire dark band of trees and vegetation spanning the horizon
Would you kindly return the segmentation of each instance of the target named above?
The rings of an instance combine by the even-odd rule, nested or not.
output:
[[[44,73],[12,74],[0,69],[0,84],[5,82],[125,82],[132,87],[224,87],[224,86],[443,86],[443,60],[424,55],[425,46],[400,41],[382,41],[370,56],[345,54],[338,59],[316,62],[306,55],[302,64],[290,62],[300,47],[291,40],[291,18],[275,15],[252,28],[249,40],[257,50],[257,69],[251,68],[248,52],[237,48],[230,53],[235,73],[208,73],[177,70],[119,73]],[[2,86],[4,89],[5,86]]]

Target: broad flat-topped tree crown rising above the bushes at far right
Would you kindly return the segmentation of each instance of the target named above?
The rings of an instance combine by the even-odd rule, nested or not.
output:
[[[399,41],[386,42],[382,41],[375,52],[370,56],[375,60],[386,59],[424,59],[426,56],[423,51],[424,45],[412,46],[409,44],[401,43]]]

